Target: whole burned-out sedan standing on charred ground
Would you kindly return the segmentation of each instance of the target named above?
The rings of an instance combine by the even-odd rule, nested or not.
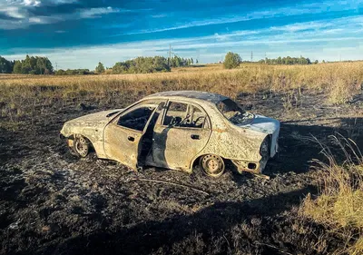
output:
[[[278,151],[280,122],[245,112],[217,93],[154,93],[125,109],[92,113],[64,123],[61,134],[81,157],[137,170],[155,166],[221,176],[225,163],[238,172],[261,173]]]

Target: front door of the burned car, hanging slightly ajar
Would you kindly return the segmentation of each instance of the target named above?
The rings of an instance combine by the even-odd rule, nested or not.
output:
[[[142,135],[157,103],[142,103],[116,117],[104,129],[104,152],[109,159],[136,169]]]

